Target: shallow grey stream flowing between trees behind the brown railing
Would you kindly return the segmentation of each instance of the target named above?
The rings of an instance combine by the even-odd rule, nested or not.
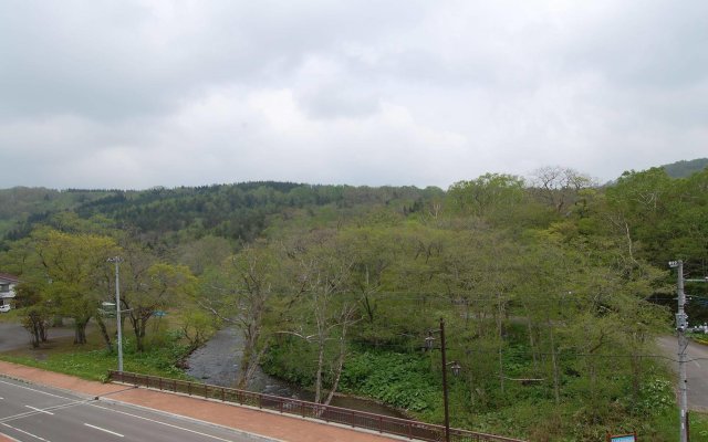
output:
[[[233,327],[217,332],[206,345],[195,350],[187,359],[189,368],[186,373],[215,386],[233,387],[241,360],[241,341],[242,336]],[[269,376],[260,367],[256,369],[246,389],[305,401],[312,401],[314,398],[313,392]],[[331,406],[406,419],[398,410],[366,399],[335,396]]]

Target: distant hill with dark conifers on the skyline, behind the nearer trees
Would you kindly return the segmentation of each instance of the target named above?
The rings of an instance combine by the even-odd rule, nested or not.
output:
[[[442,193],[438,188],[275,181],[142,191],[13,188],[0,190],[0,235],[4,240],[23,238],[35,223],[72,211],[83,219],[103,215],[152,236],[181,232],[248,242],[261,234],[270,217],[288,217],[294,209],[331,207],[340,212],[365,212],[386,207],[409,213],[418,210],[425,198]]]

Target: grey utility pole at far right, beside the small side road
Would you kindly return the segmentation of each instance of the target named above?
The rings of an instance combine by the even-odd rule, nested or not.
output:
[[[684,292],[684,262],[681,260],[669,262],[669,266],[678,270],[677,298],[678,313],[676,314],[676,333],[678,335],[678,409],[679,409],[679,442],[688,442],[688,379],[686,376],[686,329],[688,328],[688,316],[684,307],[686,306],[686,293]]]

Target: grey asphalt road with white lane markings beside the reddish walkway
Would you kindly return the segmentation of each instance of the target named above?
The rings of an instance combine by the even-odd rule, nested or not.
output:
[[[253,435],[191,419],[7,378],[0,378],[0,433],[22,442],[253,441]]]

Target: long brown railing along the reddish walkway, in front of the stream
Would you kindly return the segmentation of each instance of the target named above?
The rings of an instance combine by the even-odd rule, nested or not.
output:
[[[348,410],[339,407],[323,406],[298,399],[281,398],[253,391],[237,390],[210,386],[208,383],[189,382],[177,379],[159,378],[156,376],[138,375],[126,371],[108,371],[113,381],[134,385],[136,387],[154,388],[205,399],[216,399],[259,409],[268,409],[281,413],[294,414],[302,418],[319,419],[344,425],[356,427],[379,433],[396,434],[408,439],[423,441],[445,441],[445,427],[418,422],[407,419],[392,418],[365,411]],[[476,433],[472,431],[450,429],[450,441],[455,442],[524,442],[519,439],[504,438],[493,434]]]

